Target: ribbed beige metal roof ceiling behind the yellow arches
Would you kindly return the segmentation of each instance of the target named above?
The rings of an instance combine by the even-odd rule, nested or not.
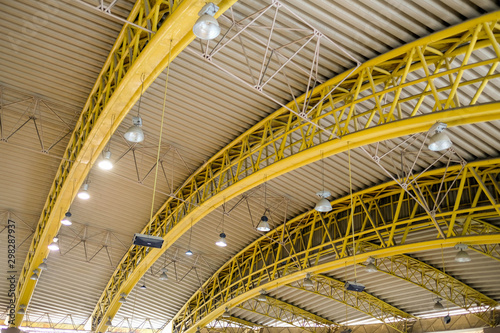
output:
[[[219,21],[227,27],[227,18],[231,15],[242,18],[268,4],[266,1],[240,0],[233,6],[233,14],[227,12],[226,18]],[[119,0],[114,11],[125,17],[132,5],[131,1]],[[493,1],[480,0],[294,0],[286,1],[286,5],[361,62],[466,19],[500,9]],[[270,22],[270,14],[266,15],[265,19]],[[293,25],[290,16],[284,16],[280,23],[289,27]],[[65,134],[73,128],[122,23],[76,2],[23,0],[0,1],[0,27],[3,32],[0,34],[3,105],[0,218],[2,225],[8,218],[17,223],[16,269],[20,270],[32,230],[67,144]],[[282,32],[283,40],[286,40],[286,33]],[[52,322],[58,322],[71,314],[75,323],[85,322],[117,263],[131,245],[133,234],[146,225],[151,211],[155,212],[204,161],[279,107],[276,102],[203,61],[196,55],[199,50],[200,43],[195,40],[170,68],[153,205],[154,166],[166,72],[142,97],[140,113],[144,119],[145,142],[131,146],[122,137],[131,125],[132,115],[138,112],[136,105],[112,137],[110,149],[115,168],[111,172],[92,169],[89,176],[91,199],[87,202],[75,199],[71,207],[74,224],[61,229],[60,251],[49,256],[49,270],[42,274],[37,284],[26,318],[35,320],[41,317],[41,321],[47,321],[48,313]],[[250,56],[253,51],[248,50]],[[326,52],[319,70],[319,81],[353,65],[352,61],[339,55],[338,50],[332,48]],[[484,58],[491,57],[491,52],[485,49]],[[217,58],[225,68],[242,73],[247,67],[241,59],[244,59],[241,49],[236,46],[222,50]],[[424,74],[417,72],[412,75],[409,79]],[[302,93],[307,77],[296,71],[291,79],[293,90]],[[494,87],[489,85],[480,102],[498,100],[499,87],[498,83]],[[278,102],[289,101],[283,79],[270,84],[269,91]],[[471,97],[467,91],[460,96],[464,102]],[[10,102],[17,103],[7,105]],[[429,108],[425,103],[422,107]],[[455,127],[449,133],[457,153],[468,161],[498,156],[499,121]],[[394,140],[388,145],[404,139]],[[432,158],[428,156],[420,160],[417,167],[425,168]],[[362,150],[353,150],[351,159],[354,190],[388,180]],[[347,161],[346,153],[324,161],[325,188],[334,198],[349,192]],[[113,323],[116,325],[128,318],[133,327],[138,327],[148,319],[153,327],[161,327],[213,272],[260,236],[254,226],[266,206],[271,207],[272,227],[311,209],[316,200],[314,193],[322,186],[321,170],[321,163],[297,169],[247,193],[242,201],[239,197],[227,202],[225,208],[217,208],[196,224],[191,233],[173,244],[146,273]],[[230,212],[224,225],[223,209]],[[228,247],[224,249],[214,246],[222,229],[228,235]],[[0,232],[0,237],[0,257],[6,258],[6,232]],[[194,256],[184,255],[188,248]],[[498,262],[472,254],[472,263],[459,265],[453,262],[453,256],[453,250],[444,251],[447,272],[486,295],[500,299],[500,289],[494,284],[500,273]],[[440,251],[417,253],[415,257],[442,267]],[[2,265],[6,260],[2,259]],[[160,281],[160,269],[165,265],[169,280]],[[473,273],[482,267],[488,269],[482,270],[481,274]],[[369,275],[361,270],[358,274],[368,292],[390,304],[416,316],[432,312],[433,294],[382,273]],[[348,267],[328,275],[348,280],[353,271]],[[1,270],[1,307],[8,304],[6,277],[6,271]],[[376,279],[376,284],[371,282],[373,279]],[[146,284],[146,290],[139,288],[142,284]],[[340,303],[290,287],[276,289],[271,295],[338,322],[370,319],[352,309],[348,309],[346,316],[345,306]],[[245,310],[234,310],[234,314],[255,323],[282,324]]]

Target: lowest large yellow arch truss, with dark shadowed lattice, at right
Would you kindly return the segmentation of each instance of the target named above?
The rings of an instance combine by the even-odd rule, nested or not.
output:
[[[483,184],[478,184],[473,174],[485,179]],[[500,228],[479,220],[498,217],[500,189],[491,180],[499,175],[500,159],[494,159],[469,163],[463,172],[461,166],[453,166],[428,171],[419,177],[418,183],[425,185],[421,186],[422,200],[432,202],[433,191],[441,184],[453,198],[444,200],[435,215],[442,230],[450,231],[451,237],[445,239],[436,240],[437,230],[429,215],[394,181],[353,194],[353,221],[357,229],[354,235],[350,234],[349,196],[333,201],[333,210],[324,215],[314,210],[302,214],[247,246],[222,266],[203,285],[203,293],[196,292],[174,317],[176,331],[192,332],[194,325],[210,322],[224,307],[255,297],[260,289],[297,281],[306,272],[322,273],[355,264],[349,255],[354,250],[353,237],[356,239],[356,263],[370,256],[385,258],[450,247],[460,242],[469,245],[500,243]],[[477,195],[483,191],[483,186],[492,191],[496,201]],[[396,221],[389,221],[378,213],[372,214],[372,210],[398,211],[399,215]],[[453,225],[452,216],[456,217]],[[371,223],[363,223],[368,217]],[[414,237],[417,241],[413,241]],[[384,247],[373,242],[394,246]],[[451,287],[455,288],[447,285]],[[496,306],[488,297],[470,289],[467,291],[461,303],[465,308],[470,304],[483,304],[488,309]]]

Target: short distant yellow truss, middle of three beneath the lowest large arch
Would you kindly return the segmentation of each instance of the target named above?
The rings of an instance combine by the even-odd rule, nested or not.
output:
[[[316,295],[328,297],[334,301],[346,304],[353,309],[380,320],[382,323],[385,323],[401,333],[406,333],[407,320],[416,319],[416,317],[411,314],[406,313],[405,311],[398,309],[365,291],[356,292],[346,290],[344,282],[329,276],[316,274],[311,276],[311,279],[315,282],[312,288],[304,287],[304,280],[298,280],[296,283],[288,286],[314,293]]]

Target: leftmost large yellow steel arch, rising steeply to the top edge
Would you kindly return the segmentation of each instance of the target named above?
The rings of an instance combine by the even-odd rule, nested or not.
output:
[[[236,1],[213,0],[220,7],[216,17]],[[154,33],[125,24],[104,63],[45,202],[17,284],[16,309],[31,300],[36,282],[29,277],[47,256],[47,246],[75,195],[72,189],[81,186],[110,135],[139,98],[141,77],[148,87],[194,39],[191,30],[203,5],[200,0],[140,0],[133,7],[127,20]],[[22,319],[17,314],[9,324],[19,326]]]

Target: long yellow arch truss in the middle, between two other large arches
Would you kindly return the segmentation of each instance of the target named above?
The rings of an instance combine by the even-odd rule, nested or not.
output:
[[[322,100],[311,111],[311,122],[281,108],[243,133],[194,172],[147,223],[142,232],[163,237],[167,245],[161,250],[130,247],[96,305],[96,320],[114,316],[120,293],[130,292],[191,223],[264,179],[319,160],[320,151],[331,156],[346,151],[347,141],[355,148],[427,131],[436,121],[459,126],[500,119],[500,103],[485,104],[482,95],[500,77],[490,71],[499,62],[499,18],[495,12],[409,43],[367,61],[343,82],[349,72],[288,104],[298,111],[306,99]],[[476,56],[484,48],[494,56]],[[457,59],[464,61],[452,66]],[[482,72],[487,74],[478,77]],[[455,80],[458,75],[461,80]],[[463,89],[474,97],[459,99]],[[97,327],[104,329],[103,324]]]

